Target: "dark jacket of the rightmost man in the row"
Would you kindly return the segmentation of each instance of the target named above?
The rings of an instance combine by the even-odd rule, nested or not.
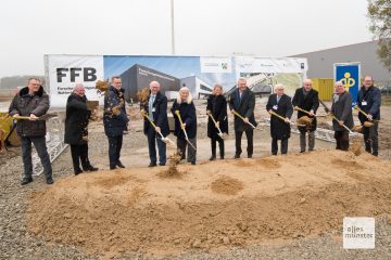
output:
[[[363,105],[363,101],[367,104]],[[374,119],[380,119],[380,105],[381,105],[381,94],[380,90],[374,86],[368,88],[368,91],[365,91],[365,87],[361,87],[357,96],[358,107],[366,114],[370,114]],[[362,123],[367,121],[367,117],[362,113],[358,113],[358,119]]]

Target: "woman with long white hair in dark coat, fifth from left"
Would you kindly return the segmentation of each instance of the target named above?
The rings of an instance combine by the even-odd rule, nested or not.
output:
[[[179,90],[177,99],[174,101],[172,113],[175,118],[175,129],[174,129],[174,135],[177,136],[177,146],[178,151],[181,155],[181,159],[185,159],[185,152],[186,146],[188,145],[188,141],[197,148],[197,116],[195,116],[195,106],[192,102],[191,94],[189,92],[189,89],[184,87]],[[180,121],[178,119],[178,116],[176,115],[176,110],[179,112],[180,118],[182,120],[182,125],[180,125]],[[186,133],[188,135],[188,141],[186,141],[186,135],[184,132],[184,129],[186,130]],[[197,151],[191,147],[191,145],[188,146],[187,152],[187,161],[191,162],[191,165],[195,165],[195,156]]]

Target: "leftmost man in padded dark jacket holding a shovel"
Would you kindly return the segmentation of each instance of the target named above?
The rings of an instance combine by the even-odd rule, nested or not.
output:
[[[28,79],[28,86],[21,89],[10,105],[10,116],[27,116],[29,120],[18,120],[16,132],[21,136],[22,159],[24,177],[22,185],[33,182],[31,143],[37,150],[43,166],[43,173],[48,184],[53,183],[52,167],[46,146],[46,121],[36,120],[49,109],[49,95],[43,91],[41,81],[36,78]]]

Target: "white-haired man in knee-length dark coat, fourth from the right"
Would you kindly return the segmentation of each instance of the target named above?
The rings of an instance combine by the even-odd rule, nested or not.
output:
[[[277,155],[278,140],[281,140],[281,154],[288,153],[288,139],[290,138],[290,118],[293,114],[291,98],[283,93],[283,86],[276,84],[275,93],[270,94],[266,104],[267,112],[274,112],[285,120],[270,116],[272,155]]]

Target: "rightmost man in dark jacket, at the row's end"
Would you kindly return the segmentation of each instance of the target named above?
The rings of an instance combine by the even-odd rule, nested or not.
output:
[[[374,87],[371,76],[366,76],[363,80],[363,87],[358,91],[357,105],[368,115],[368,117],[366,117],[362,113],[358,113],[358,119],[363,125],[365,151],[378,156],[378,128],[380,120],[381,93],[378,88]],[[364,122],[367,120],[371,121],[374,126],[365,127]]]

